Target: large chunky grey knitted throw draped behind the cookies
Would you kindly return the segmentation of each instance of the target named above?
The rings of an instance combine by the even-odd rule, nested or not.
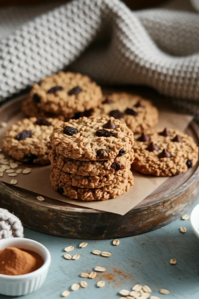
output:
[[[74,0],[42,12],[15,32],[2,30],[10,15],[0,12],[0,100],[73,62],[70,70],[98,83],[151,86],[198,114],[198,14],[132,12],[119,0]]]

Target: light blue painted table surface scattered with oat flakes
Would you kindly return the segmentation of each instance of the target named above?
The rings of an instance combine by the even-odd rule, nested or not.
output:
[[[179,231],[181,226],[186,227],[185,234]],[[54,237],[30,229],[25,229],[25,237],[41,242],[49,249],[52,265],[41,289],[22,297],[24,299],[60,298],[61,292],[70,290],[70,286],[80,280],[87,281],[87,289],[71,292],[67,298],[117,299],[121,297],[118,291],[131,290],[137,283],[150,286],[152,295],[160,298],[199,298],[199,240],[192,232],[189,220],[178,219],[156,231],[120,239],[119,246],[113,246],[112,240],[84,240],[88,245],[80,249],[83,240]],[[80,254],[79,260],[63,258],[63,249],[69,245],[75,247],[70,254]],[[93,255],[93,249],[109,251],[112,256]],[[176,265],[170,265],[171,258],[177,259]],[[105,267],[107,272],[93,280],[79,277],[80,273],[91,271],[95,266]],[[98,280],[105,280],[106,285],[98,289]],[[159,289],[168,289],[170,295],[159,294]],[[0,295],[0,298],[10,297]]]

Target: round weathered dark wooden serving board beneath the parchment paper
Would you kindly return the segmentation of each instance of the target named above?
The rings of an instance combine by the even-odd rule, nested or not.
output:
[[[20,111],[16,99],[0,108],[1,121]],[[187,133],[199,144],[199,127],[192,122]],[[109,239],[132,236],[162,227],[185,213],[199,195],[199,167],[168,178],[158,189],[124,216],[70,205],[0,182],[0,207],[15,213],[24,226],[63,237]],[[144,187],[144,186],[143,186]]]

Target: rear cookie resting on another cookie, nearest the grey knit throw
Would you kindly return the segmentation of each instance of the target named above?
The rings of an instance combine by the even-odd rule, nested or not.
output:
[[[42,111],[72,118],[102,102],[101,87],[88,76],[59,72],[34,84],[30,98]]]

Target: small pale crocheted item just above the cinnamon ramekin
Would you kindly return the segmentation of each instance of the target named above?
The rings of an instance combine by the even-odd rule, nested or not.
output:
[[[23,237],[21,221],[13,214],[0,208],[0,239]]]

